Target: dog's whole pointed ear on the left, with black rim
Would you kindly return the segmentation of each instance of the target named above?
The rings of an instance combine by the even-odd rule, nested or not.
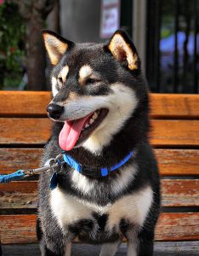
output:
[[[62,55],[73,43],[50,30],[43,30],[42,34],[49,59],[53,65],[57,65]]]

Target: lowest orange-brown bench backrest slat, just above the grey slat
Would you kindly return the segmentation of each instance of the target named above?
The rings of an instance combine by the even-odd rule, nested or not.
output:
[[[0,215],[1,241],[32,243],[36,238],[36,215]],[[162,213],[156,226],[156,241],[199,239],[199,213]]]

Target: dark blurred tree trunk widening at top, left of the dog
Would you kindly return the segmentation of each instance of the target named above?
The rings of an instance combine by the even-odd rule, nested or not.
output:
[[[56,0],[12,0],[12,2],[18,5],[20,15],[26,20],[27,90],[44,90],[46,59],[41,30],[45,27],[45,20],[54,8]]]

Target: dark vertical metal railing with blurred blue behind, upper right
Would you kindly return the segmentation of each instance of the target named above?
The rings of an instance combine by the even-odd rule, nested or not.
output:
[[[147,3],[146,77],[151,91],[198,93],[199,1]]]

